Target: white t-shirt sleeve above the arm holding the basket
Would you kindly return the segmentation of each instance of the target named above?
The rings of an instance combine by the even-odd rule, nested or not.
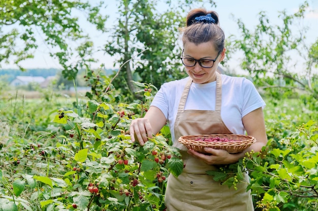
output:
[[[257,89],[250,80],[244,78],[242,82],[242,87],[242,117],[253,110],[256,110],[260,107],[265,107],[266,104],[264,100],[262,99],[260,93],[257,91]]]

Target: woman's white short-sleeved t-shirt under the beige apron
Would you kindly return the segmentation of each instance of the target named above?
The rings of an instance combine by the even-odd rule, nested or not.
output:
[[[244,77],[221,75],[222,104],[221,118],[233,134],[245,134],[242,117],[265,106],[265,102],[253,83]],[[150,106],[159,108],[166,116],[172,141],[174,122],[182,92],[189,77],[164,83]],[[192,83],[184,110],[215,110],[216,81],[204,84]]]

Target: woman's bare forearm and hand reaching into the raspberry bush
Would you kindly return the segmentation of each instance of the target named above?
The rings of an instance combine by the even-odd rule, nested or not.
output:
[[[136,139],[140,145],[157,134],[166,124],[167,119],[164,113],[155,106],[150,106],[145,117],[132,120],[130,125],[130,135],[132,141]]]

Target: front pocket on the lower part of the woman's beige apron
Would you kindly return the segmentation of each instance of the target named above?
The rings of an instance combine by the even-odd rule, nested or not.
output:
[[[223,190],[227,188],[215,182],[209,175],[196,175],[189,181],[191,201],[190,204],[205,209],[217,208],[223,201]]]

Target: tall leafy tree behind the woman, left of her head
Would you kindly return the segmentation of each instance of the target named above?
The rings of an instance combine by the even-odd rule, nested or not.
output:
[[[121,0],[118,3],[118,24],[111,30],[105,51],[119,56],[118,63],[123,65],[114,82],[117,88],[128,88],[123,93],[135,95],[132,80],[139,77],[159,87],[185,74],[179,65],[179,28],[185,23],[184,9],[193,2]],[[163,5],[166,5],[165,10],[157,10]]]

